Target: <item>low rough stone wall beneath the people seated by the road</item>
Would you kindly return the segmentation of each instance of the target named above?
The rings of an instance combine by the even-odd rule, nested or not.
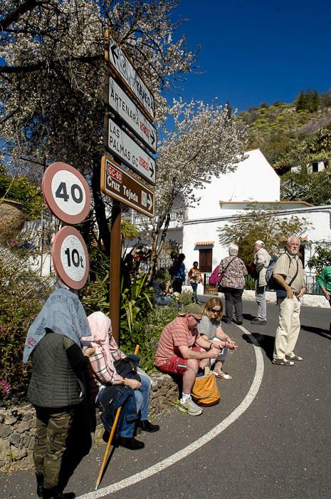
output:
[[[168,411],[179,396],[179,389],[167,374],[154,373],[149,399],[149,418]],[[95,446],[102,443],[103,426],[97,415]],[[0,471],[11,472],[21,468],[32,468],[32,450],[36,436],[36,413],[26,403],[0,409]]]

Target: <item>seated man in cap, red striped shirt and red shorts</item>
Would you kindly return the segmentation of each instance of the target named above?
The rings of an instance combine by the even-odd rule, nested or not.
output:
[[[171,321],[159,339],[155,366],[167,374],[179,374],[183,377],[182,398],[179,411],[190,416],[199,416],[201,407],[191,399],[191,389],[202,359],[216,359],[219,356],[221,342],[204,339],[196,329],[202,319],[203,309],[196,303],[186,305],[179,312],[179,317]],[[201,351],[201,349],[206,351]]]

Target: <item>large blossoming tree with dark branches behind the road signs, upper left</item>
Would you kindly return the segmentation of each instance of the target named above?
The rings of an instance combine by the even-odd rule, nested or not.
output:
[[[170,12],[177,0],[0,0],[0,144],[15,173],[63,161],[78,168],[93,190],[95,216],[109,246],[105,200],[100,195],[106,63],[104,32],[112,30],[156,101],[191,71],[196,53],[184,37],[172,41]],[[27,158],[28,161],[22,160]]]

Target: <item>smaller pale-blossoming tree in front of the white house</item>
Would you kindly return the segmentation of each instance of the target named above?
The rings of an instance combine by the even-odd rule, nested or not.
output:
[[[152,230],[149,227],[152,253],[148,281],[162,250],[175,200],[181,198],[184,207],[199,202],[197,189],[236,168],[246,136],[226,106],[174,100],[169,115],[173,127],[164,130],[158,150],[156,216]]]

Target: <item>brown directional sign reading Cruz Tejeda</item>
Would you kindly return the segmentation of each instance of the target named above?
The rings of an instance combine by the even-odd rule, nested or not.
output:
[[[103,156],[101,160],[101,190],[137,212],[154,217],[153,190],[107,156]]]

